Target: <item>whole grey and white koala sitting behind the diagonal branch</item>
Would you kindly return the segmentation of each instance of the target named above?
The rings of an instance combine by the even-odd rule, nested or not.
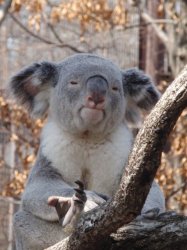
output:
[[[159,92],[142,71],[122,70],[93,54],[35,63],[12,77],[10,87],[32,115],[48,112],[14,216],[17,250],[41,250],[67,237],[82,212],[115,193],[133,145],[128,122],[149,111]],[[151,209],[165,210],[156,182],[141,213]]]

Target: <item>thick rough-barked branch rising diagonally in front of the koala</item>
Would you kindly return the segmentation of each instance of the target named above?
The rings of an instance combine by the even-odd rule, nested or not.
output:
[[[110,234],[140,214],[168,135],[186,107],[187,66],[145,120],[112,200],[83,214],[74,233],[48,250],[110,249]]]

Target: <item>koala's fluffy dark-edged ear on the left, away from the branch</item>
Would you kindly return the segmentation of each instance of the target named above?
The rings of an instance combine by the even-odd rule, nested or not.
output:
[[[10,90],[18,103],[32,115],[41,116],[49,107],[50,89],[57,84],[57,66],[49,62],[34,63],[10,80]]]

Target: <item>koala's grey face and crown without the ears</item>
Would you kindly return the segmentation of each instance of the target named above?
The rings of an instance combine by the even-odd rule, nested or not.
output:
[[[51,96],[51,115],[72,133],[108,132],[125,114],[121,71],[96,56],[77,55],[63,61]]]

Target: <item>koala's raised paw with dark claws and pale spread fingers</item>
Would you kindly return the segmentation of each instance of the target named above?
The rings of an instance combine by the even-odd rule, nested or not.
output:
[[[78,188],[74,189],[75,194],[71,198],[62,196],[50,196],[48,198],[48,204],[56,208],[59,223],[62,227],[66,227],[68,224],[76,224],[87,200],[83,183],[81,181],[75,183]]]

